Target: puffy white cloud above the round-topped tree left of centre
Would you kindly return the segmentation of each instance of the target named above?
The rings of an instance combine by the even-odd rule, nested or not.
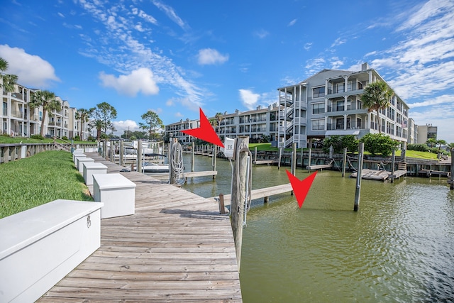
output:
[[[126,94],[135,97],[139,92],[145,95],[157,94],[159,87],[153,78],[153,72],[148,68],[133,70],[129,75],[121,75],[118,78],[114,75],[99,73],[99,79],[104,87],[113,87],[119,94]]]

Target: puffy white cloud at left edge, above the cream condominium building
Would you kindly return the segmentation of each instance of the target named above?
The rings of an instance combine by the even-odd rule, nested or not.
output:
[[[0,57],[9,64],[6,72],[17,75],[18,83],[27,87],[48,88],[52,81],[60,82],[54,67],[48,61],[37,55],[30,55],[22,48],[0,45]]]

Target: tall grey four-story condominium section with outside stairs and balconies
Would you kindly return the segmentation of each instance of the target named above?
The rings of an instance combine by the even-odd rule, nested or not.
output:
[[[367,84],[384,81],[376,70],[362,65],[359,72],[322,70],[303,82],[279,88],[279,145],[311,147],[326,136],[378,133],[376,112],[362,106]],[[409,106],[394,93],[391,105],[380,111],[382,133],[406,143]]]

